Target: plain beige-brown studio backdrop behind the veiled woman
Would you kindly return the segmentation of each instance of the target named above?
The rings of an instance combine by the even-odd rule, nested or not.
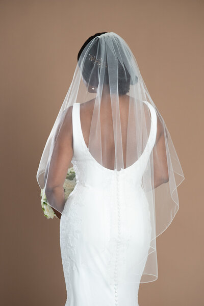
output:
[[[180,210],[157,239],[159,278],[140,285],[139,305],[203,305],[204,2],[2,0],[0,6],[1,304],[65,304],[59,219],[43,216],[36,172],[82,44],[97,32],[115,32],[136,57],[185,175]]]

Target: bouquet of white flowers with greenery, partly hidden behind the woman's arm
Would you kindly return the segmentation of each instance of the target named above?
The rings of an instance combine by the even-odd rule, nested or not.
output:
[[[77,182],[75,177],[75,171],[73,170],[73,167],[70,167],[67,171],[66,179],[63,184],[65,200],[67,200],[69,194],[73,191],[76,184]],[[47,219],[50,218],[53,219],[54,217],[57,217],[54,210],[47,202],[47,198],[45,195],[45,188],[41,189],[40,196],[41,196],[41,206],[44,212],[44,216]]]

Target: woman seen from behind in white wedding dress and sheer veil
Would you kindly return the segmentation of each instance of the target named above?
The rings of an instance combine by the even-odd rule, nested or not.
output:
[[[72,162],[77,185],[65,201]],[[156,237],[184,180],[170,134],[126,42],[96,33],[80,49],[37,172],[60,218],[66,306],[135,306],[158,278]]]

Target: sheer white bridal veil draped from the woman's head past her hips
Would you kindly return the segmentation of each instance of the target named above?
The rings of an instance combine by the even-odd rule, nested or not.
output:
[[[123,186],[132,184],[134,190],[137,182],[129,182],[128,173],[133,165],[144,167],[141,186],[148,200],[151,241],[141,283],[156,281],[156,237],[166,230],[179,210],[177,187],[183,182],[184,174],[170,133],[150,97],[136,59],[116,33],[107,32],[91,39],[78,59],[37,171],[39,187],[45,188],[47,194],[50,189],[57,190],[63,185],[70,167],[66,152],[71,147],[72,108],[77,103],[80,104],[85,149],[97,167],[107,169],[107,179],[111,175],[117,181],[120,173]],[[74,164],[74,158],[72,162]],[[126,190],[124,188],[124,192]],[[106,190],[104,196],[106,198]],[[131,201],[129,194],[125,198]],[[130,201],[125,201],[124,207],[130,205]],[[57,192],[47,203],[67,217],[65,203]],[[110,236],[114,222],[109,228]],[[125,226],[128,227],[128,222]],[[126,230],[128,232],[128,228]],[[99,238],[105,240],[105,236]],[[107,249],[101,246],[101,251]],[[125,264],[125,260],[121,262],[121,270]],[[134,270],[121,274],[120,282],[135,283]]]

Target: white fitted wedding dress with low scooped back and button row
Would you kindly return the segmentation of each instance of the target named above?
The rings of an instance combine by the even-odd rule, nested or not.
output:
[[[105,168],[90,154],[82,133],[80,104],[73,105],[72,164],[77,185],[69,195],[60,219],[60,247],[67,290],[65,306],[138,305],[140,278],[151,237],[150,212],[141,180],[157,133],[155,109],[148,102],[147,105],[151,112],[151,127],[145,149],[135,163],[119,171]],[[117,180],[114,180],[115,176]],[[124,198],[124,195],[128,197]],[[111,222],[117,224],[115,232],[111,232],[115,233],[113,237],[108,232]],[[125,228],[130,232],[123,235],[125,222],[128,223]],[[126,237],[130,237],[129,241],[125,241]],[[118,263],[126,243],[131,263],[134,259],[138,262],[144,258],[141,265],[137,265],[136,273],[140,276],[136,275],[132,284],[118,283],[117,278]],[[106,251],[101,251],[104,245],[107,245]],[[108,252],[112,249],[116,251]],[[109,272],[114,279],[112,285],[108,282],[108,258],[111,263]],[[125,269],[132,269],[128,263]]]

